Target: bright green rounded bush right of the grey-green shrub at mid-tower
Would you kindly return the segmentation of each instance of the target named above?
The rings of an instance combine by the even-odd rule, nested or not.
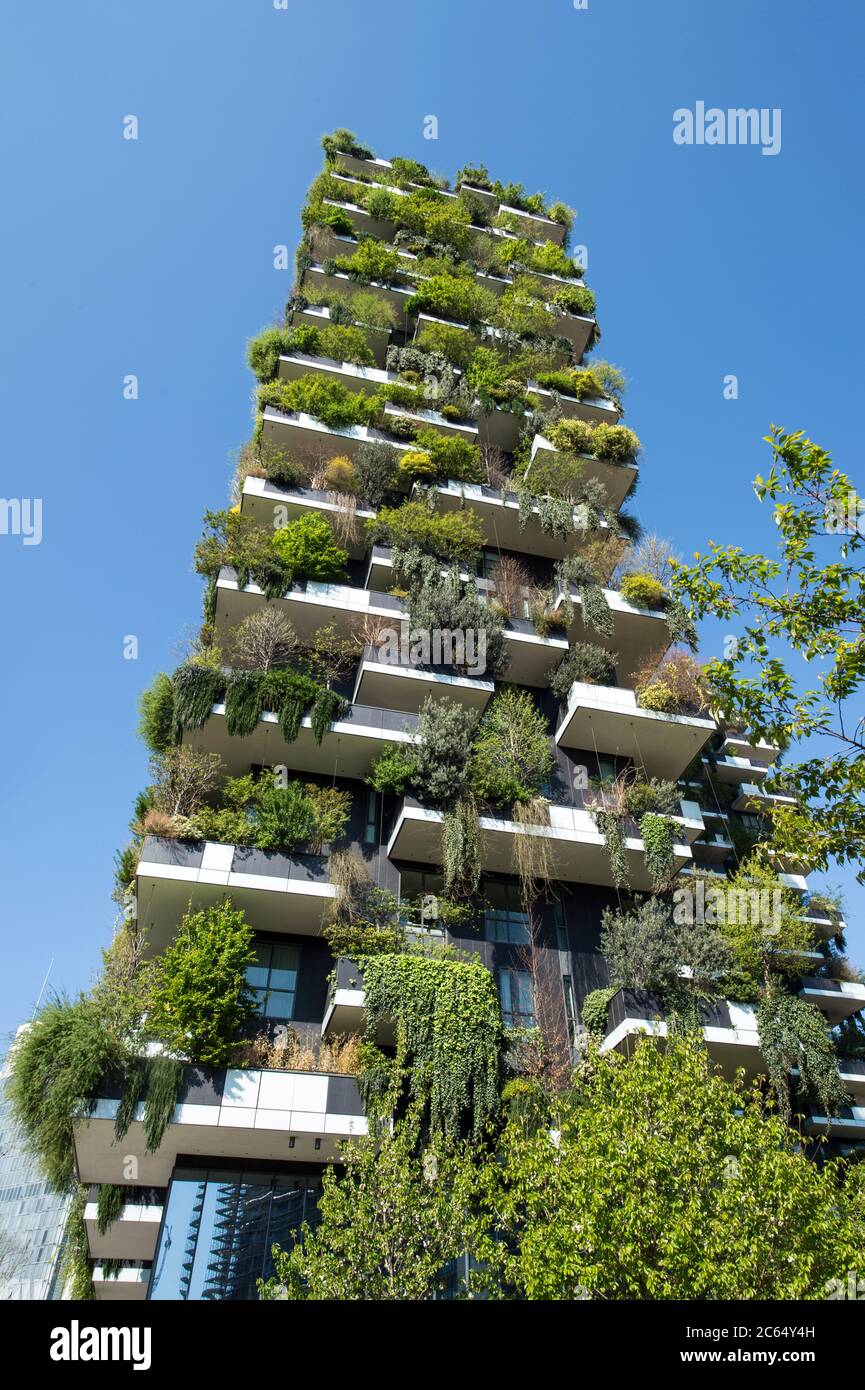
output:
[[[505,689],[484,710],[471,753],[471,788],[495,806],[528,802],[553,769],[547,720],[526,691]]]

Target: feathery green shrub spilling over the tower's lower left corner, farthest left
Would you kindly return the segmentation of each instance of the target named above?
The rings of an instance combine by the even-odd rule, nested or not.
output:
[[[120,1040],[106,1031],[86,995],[46,1004],[11,1049],[13,1115],[57,1193],[75,1177],[72,1126],[90,1113],[99,1083],[120,1055]]]

